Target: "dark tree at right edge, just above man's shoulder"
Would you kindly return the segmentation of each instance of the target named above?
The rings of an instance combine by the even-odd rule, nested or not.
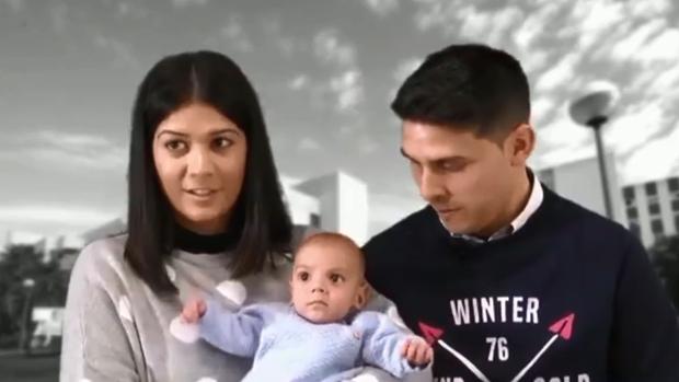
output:
[[[659,239],[649,253],[667,292],[679,309],[679,235]]]

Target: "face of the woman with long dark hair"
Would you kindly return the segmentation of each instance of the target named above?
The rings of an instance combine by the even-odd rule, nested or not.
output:
[[[177,222],[202,234],[223,232],[245,176],[245,134],[212,106],[192,103],[163,119],[153,162]]]

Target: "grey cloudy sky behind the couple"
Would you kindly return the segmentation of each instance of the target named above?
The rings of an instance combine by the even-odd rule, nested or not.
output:
[[[281,173],[366,181],[375,232],[419,206],[388,104],[428,53],[517,56],[537,167],[594,155],[567,103],[620,89],[605,139],[619,181],[679,173],[679,7],[671,0],[0,0],[0,242],[120,216],[129,114],[161,57],[216,49],[257,89]]]

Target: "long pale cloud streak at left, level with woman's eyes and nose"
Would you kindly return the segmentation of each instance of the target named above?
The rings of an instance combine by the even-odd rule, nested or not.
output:
[[[50,166],[125,171],[127,148],[100,136],[42,130],[16,139],[13,150],[4,150],[0,159],[30,159]]]

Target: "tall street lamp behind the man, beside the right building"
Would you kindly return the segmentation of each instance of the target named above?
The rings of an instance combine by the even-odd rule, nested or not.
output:
[[[601,128],[610,118],[618,96],[618,89],[612,83],[595,82],[590,85],[590,90],[573,101],[569,107],[571,118],[579,125],[590,127],[595,132],[601,189],[603,190],[603,207],[606,217],[609,219],[613,219],[613,208],[606,170],[606,152],[603,151]]]

